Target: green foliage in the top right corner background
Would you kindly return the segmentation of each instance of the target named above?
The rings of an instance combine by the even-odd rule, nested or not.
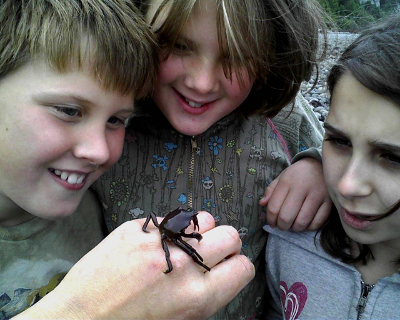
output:
[[[337,31],[359,32],[372,22],[400,11],[400,0],[318,0],[318,2],[332,20],[330,29]]]

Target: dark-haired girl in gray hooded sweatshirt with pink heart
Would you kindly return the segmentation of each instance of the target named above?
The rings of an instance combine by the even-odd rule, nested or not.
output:
[[[266,227],[270,318],[400,319],[400,15],[364,31],[328,85],[322,163],[336,210],[317,234]]]

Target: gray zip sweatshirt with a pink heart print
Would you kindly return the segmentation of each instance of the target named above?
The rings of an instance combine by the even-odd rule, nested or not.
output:
[[[267,319],[400,319],[399,273],[367,286],[355,267],[323,251],[319,238],[315,246],[315,232],[264,230]]]

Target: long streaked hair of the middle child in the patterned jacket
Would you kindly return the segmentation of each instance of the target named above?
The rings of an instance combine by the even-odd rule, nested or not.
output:
[[[168,8],[156,35],[167,55],[183,31],[199,0],[164,0],[152,24]],[[326,49],[325,14],[315,0],[214,0],[220,50],[227,56],[227,77],[245,67],[255,81],[242,114],[276,115],[293,101],[302,81],[309,80]],[[141,9],[149,9],[143,0]],[[164,16],[163,16],[164,17]],[[318,54],[319,33],[325,35]]]

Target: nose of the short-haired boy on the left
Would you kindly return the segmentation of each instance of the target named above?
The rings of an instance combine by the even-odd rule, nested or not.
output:
[[[106,138],[106,128],[92,126],[76,138],[73,154],[78,159],[102,165],[110,159],[110,149]]]

